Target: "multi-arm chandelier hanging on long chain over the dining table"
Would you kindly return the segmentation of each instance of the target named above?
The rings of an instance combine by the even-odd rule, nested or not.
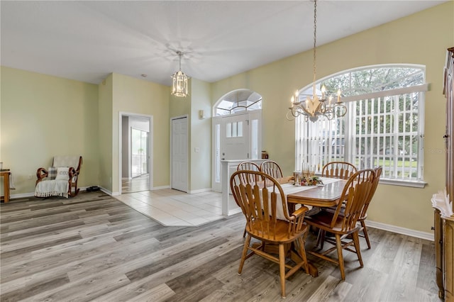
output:
[[[319,117],[331,120],[335,117],[345,116],[347,107],[341,102],[341,89],[337,91],[337,100],[333,96],[327,98],[326,88],[323,85],[319,94],[316,90],[316,36],[317,36],[317,0],[314,0],[314,78],[312,81],[312,96],[300,98],[299,91],[292,96],[292,106],[289,107],[287,120],[292,121],[298,116],[304,116],[304,121],[316,122]]]

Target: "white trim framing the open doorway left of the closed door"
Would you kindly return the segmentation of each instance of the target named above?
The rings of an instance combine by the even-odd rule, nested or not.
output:
[[[123,127],[123,116],[135,116],[139,118],[148,118],[148,176],[149,176],[149,183],[148,183],[148,190],[153,190],[153,116],[148,114],[141,114],[141,113],[131,113],[131,112],[124,112],[120,111],[118,113],[118,193],[121,195],[121,179],[123,175],[122,171],[122,158],[123,158],[123,151],[122,151],[122,127]]]

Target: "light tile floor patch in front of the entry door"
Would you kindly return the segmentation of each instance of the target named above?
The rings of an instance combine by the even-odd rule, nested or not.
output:
[[[162,225],[197,226],[223,218],[221,193],[186,194],[172,189],[114,196]]]

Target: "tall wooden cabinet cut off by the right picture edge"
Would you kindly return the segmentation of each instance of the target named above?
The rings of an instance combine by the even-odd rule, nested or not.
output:
[[[443,94],[446,96],[446,195],[454,199],[454,47],[448,49],[445,65]],[[435,194],[433,198],[437,198]],[[445,196],[438,196],[445,198]],[[454,202],[450,207],[454,211]],[[435,210],[435,250],[436,250],[436,283],[438,296],[445,301],[454,301],[454,215],[442,214],[440,208]]]

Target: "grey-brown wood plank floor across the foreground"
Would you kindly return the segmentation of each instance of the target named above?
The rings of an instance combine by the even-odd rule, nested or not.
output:
[[[281,301],[278,267],[247,259],[244,218],[164,227],[100,191],[1,204],[1,301]],[[370,228],[372,249],[338,268],[309,260],[286,301],[439,301],[433,242]],[[306,249],[313,246],[309,235]]]

